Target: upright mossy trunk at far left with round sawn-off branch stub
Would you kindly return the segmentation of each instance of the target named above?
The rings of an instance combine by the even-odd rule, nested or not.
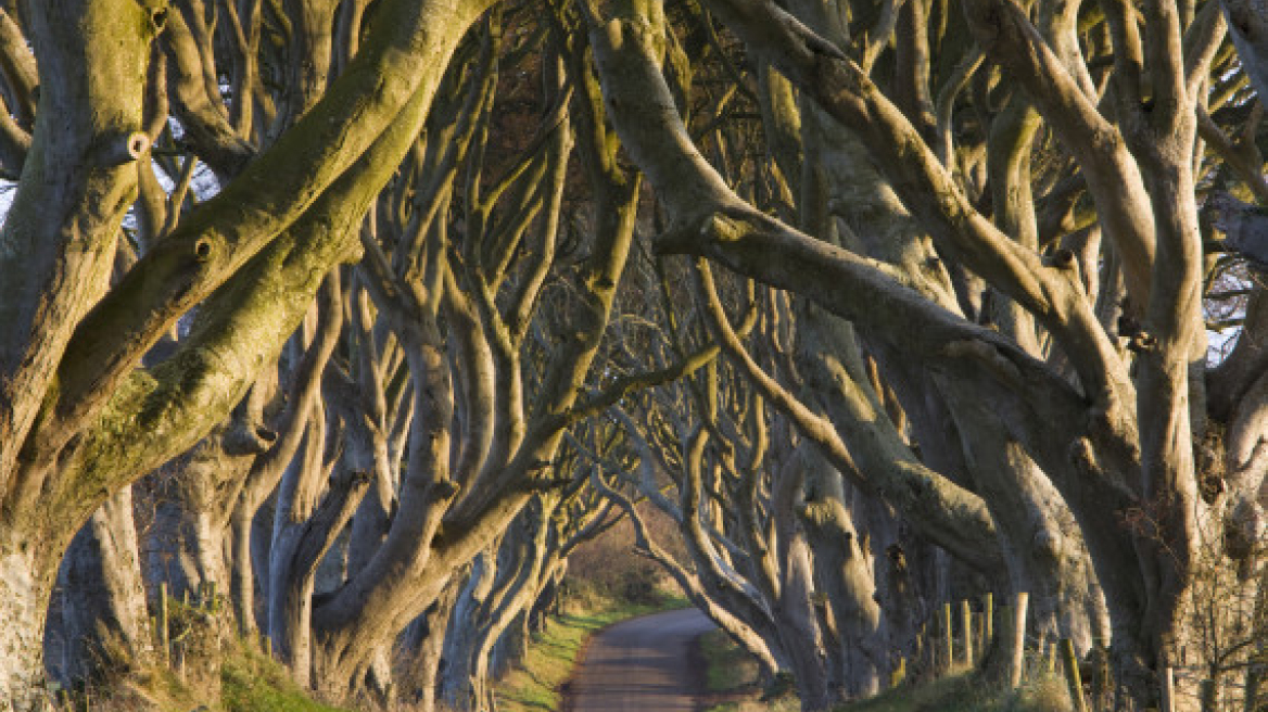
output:
[[[41,492],[58,464],[28,436],[74,435],[42,422],[58,359],[107,289],[119,220],[136,195],[128,148],[141,127],[155,10],[127,0],[29,9],[39,109],[0,232],[0,708],[39,703],[39,641],[57,563],[110,494],[62,511]]]

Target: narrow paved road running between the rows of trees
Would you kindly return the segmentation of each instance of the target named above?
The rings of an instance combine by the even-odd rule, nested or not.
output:
[[[569,688],[569,712],[692,712],[701,671],[691,641],[713,628],[695,608],[643,616],[591,639]]]

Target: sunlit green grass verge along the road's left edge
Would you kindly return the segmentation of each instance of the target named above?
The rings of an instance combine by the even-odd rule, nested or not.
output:
[[[591,599],[581,609],[552,618],[547,631],[535,636],[527,658],[497,683],[500,712],[549,712],[560,708],[560,688],[572,675],[586,640],[618,621],[681,608],[686,602],[666,598],[654,604],[630,604]],[[650,712],[650,711],[649,711]]]

